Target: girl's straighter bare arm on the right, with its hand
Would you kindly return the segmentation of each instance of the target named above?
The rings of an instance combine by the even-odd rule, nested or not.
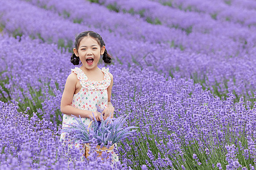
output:
[[[111,94],[112,94],[112,87],[113,87],[113,82],[114,82],[113,79],[114,78],[113,78],[113,75],[111,73],[110,73],[110,78],[111,78],[111,82],[110,82],[109,87],[107,88],[107,91],[108,91],[108,108],[105,108],[104,111],[102,112],[102,114],[105,113],[104,114],[104,120],[109,116],[111,116],[111,118],[114,117],[114,107],[111,103]]]

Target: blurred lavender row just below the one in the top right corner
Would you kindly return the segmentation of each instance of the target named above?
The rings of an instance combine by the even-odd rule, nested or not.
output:
[[[254,37],[255,39],[255,33],[252,30],[255,29],[256,20],[253,16],[256,15],[256,11],[253,11],[252,14],[247,15],[251,22],[251,28],[248,28],[242,27],[242,25],[237,23],[214,20],[210,15],[202,14],[197,11],[185,12],[177,8],[163,6],[160,3],[151,2],[148,0],[143,0],[140,3],[135,2],[136,1],[134,0],[99,1],[99,3],[112,10],[138,14],[143,19],[147,20],[147,22],[162,24],[170,28],[181,28],[184,29],[187,34],[199,32],[203,33],[203,36],[205,36],[204,34],[210,34],[211,36],[218,37],[218,39],[220,39],[221,36],[224,36],[226,39],[233,39],[237,41],[240,39],[245,39],[245,41],[247,41],[250,36]],[[247,35],[249,32],[250,36]],[[251,40],[251,43],[255,42]]]

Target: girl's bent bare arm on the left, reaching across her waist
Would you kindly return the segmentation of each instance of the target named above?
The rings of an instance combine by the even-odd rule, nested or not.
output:
[[[84,111],[84,110],[75,108],[71,105],[73,95],[76,90],[76,83],[77,83],[77,75],[75,73],[71,73],[67,78],[63,95],[61,97],[60,111],[67,115],[73,114],[76,117],[79,117],[80,115],[81,117],[93,118],[93,114],[91,111]],[[96,116],[96,113],[94,113],[94,115]]]

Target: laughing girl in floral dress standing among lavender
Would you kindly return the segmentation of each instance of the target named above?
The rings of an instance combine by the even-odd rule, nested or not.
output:
[[[111,63],[112,57],[108,54],[102,37],[93,31],[85,31],[76,36],[75,48],[73,48],[71,62],[73,65],[81,64],[81,67],[71,69],[72,73],[68,76],[63,96],[61,98],[60,110],[63,115],[63,127],[75,122],[76,117],[81,116],[85,124],[96,118],[104,120],[107,117],[113,118],[114,107],[110,101],[113,75],[109,69],[98,68],[98,61],[102,55],[105,63]],[[100,107],[104,111],[97,112]],[[60,139],[65,139],[65,133],[61,133]],[[68,141],[70,141],[68,139]],[[85,152],[85,144],[77,143],[75,147],[79,148],[82,156]],[[112,159],[118,161],[117,155],[112,152]]]

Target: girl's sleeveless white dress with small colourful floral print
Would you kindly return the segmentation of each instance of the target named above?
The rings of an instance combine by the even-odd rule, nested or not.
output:
[[[101,109],[105,109],[108,107],[108,91],[107,88],[110,85],[111,78],[109,73],[109,68],[102,67],[101,71],[104,73],[104,79],[100,82],[97,81],[90,81],[88,80],[87,76],[85,75],[84,71],[82,71],[79,67],[75,67],[75,69],[71,69],[72,73],[77,74],[77,78],[80,81],[82,86],[81,90],[73,95],[71,105],[75,108],[79,108],[82,110],[97,112],[96,105]],[[89,125],[91,121],[90,118],[81,118],[85,124]],[[67,127],[67,124],[72,124],[76,122],[75,118],[69,116],[67,114],[63,115],[63,123],[62,127]],[[60,139],[65,139],[66,133],[61,133]],[[68,140],[69,141],[69,140]],[[85,151],[85,144],[84,143],[77,143],[75,147],[80,148],[81,153]],[[112,159],[115,162],[118,162],[118,156],[112,151]]]

